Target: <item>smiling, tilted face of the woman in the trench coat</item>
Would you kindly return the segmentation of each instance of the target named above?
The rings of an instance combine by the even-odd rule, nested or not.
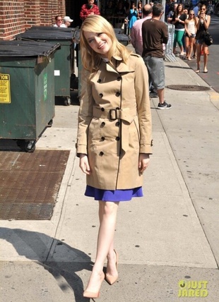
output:
[[[94,52],[107,58],[109,49],[112,47],[112,40],[104,32],[84,32],[84,37]]]

